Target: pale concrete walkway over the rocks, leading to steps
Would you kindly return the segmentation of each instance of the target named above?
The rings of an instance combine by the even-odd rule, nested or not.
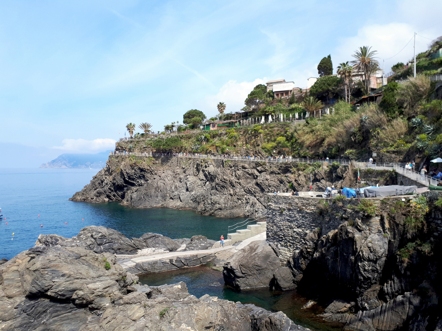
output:
[[[252,241],[257,240],[266,240],[266,233],[259,233],[254,237],[250,237],[248,239],[245,239],[244,241],[240,241],[239,244],[236,245],[225,245],[224,247],[218,247],[218,248],[210,248],[210,249],[200,249],[197,251],[184,251],[184,252],[169,252],[169,253],[160,253],[160,254],[152,254],[152,255],[144,255],[144,256],[138,256],[133,257],[127,262],[119,262],[121,266],[126,269],[129,267],[135,266],[137,263],[143,263],[148,261],[155,261],[155,260],[169,260],[169,259],[175,259],[177,257],[187,257],[187,256],[193,256],[193,255],[209,255],[214,253],[219,253],[223,251],[231,251],[237,252],[240,249],[246,247],[248,244],[250,244]],[[118,256],[117,256],[118,258]]]

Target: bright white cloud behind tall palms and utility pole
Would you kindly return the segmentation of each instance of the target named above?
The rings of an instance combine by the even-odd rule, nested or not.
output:
[[[372,24],[363,26],[358,33],[349,38],[344,38],[339,43],[334,54],[332,54],[333,66],[336,68],[339,63],[353,60],[351,54],[360,46],[372,46],[372,50],[378,52],[378,61],[382,68],[382,59],[385,60],[385,71],[390,71],[393,64],[397,62],[406,63],[413,57],[413,37],[415,27],[407,23]],[[402,48],[407,44],[404,50]],[[416,54],[427,49],[427,39],[416,37]],[[399,53],[400,52],[400,53]],[[399,53],[399,54],[397,54]],[[397,54],[397,55],[396,55]],[[396,56],[395,56],[396,55]]]

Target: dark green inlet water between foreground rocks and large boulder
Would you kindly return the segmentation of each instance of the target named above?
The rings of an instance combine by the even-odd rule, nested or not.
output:
[[[252,303],[273,312],[281,310],[293,322],[308,327],[311,330],[342,330],[341,323],[326,322],[322,317],[317,316],[324,311],[323,307],[313,305],[312,308],[301,309],[307,303],[307,299],[298,295],[296,291],[279,292],[261,289],[236,292],[224,285],[221,272],[215,271],[208,266],[182,268],[158,274],[144,274],[139,275],[139,277],[141,283],[149,286],[185,282],[189,293],[195,297],[202,297],[207,293],[210,296],[233,302]]]

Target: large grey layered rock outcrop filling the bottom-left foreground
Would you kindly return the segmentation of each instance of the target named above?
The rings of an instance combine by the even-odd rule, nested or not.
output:
[[[104,252],[115,249],[110,242],[58,243],[0,265],[1,330],[308,330],[282,312],[207,294],[198,299],[183,282],[142,286]]]

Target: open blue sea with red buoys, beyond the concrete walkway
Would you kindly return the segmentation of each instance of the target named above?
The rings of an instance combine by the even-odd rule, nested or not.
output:
[[[107,226],[129,238],[155,232],[173,239],[202,234],[218,240],[221,234],[227,237],[228,226],[243,220],[170,208],[132,209],[116,202],[69,201],[97,172],[98,169],[0,169],[0,259],[9,260],[34,246],[40,233],[72,237],[89,225]]]

